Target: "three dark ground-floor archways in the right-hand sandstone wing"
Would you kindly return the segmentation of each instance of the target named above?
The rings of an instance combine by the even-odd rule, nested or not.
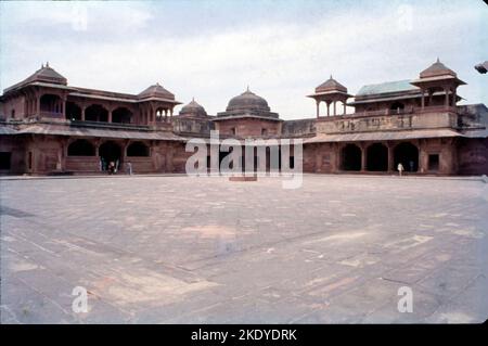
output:
[[[365,149],[365,167],[363,167],[363,150],[356,144],[347,144],[341,151],[341,169],[359,171],[388,171],[388,148],[383,143],[373,143]],[[393,149],[393,169],[401,163],[406,171],[419,170],[419,149],[410,142],[397,144]]]

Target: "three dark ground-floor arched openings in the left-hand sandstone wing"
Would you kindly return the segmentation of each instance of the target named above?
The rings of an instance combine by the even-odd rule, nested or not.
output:
[[[123,148],[114,142],[106,141],[99,146],[99,156],[105,162],[119,161],[123,154]],[[68,156],[95,156],[97,148],[93,143],[86,139],[79,139],[72,142],[67,148]],[[127,146],[126,156],[131,157],[149,157],[150,148],[140,141],[132,142]]]

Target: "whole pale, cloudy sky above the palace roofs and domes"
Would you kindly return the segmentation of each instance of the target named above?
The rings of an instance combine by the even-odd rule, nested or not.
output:
[[[440,59],[488,105],[488,7],[460,1],[179,0],[0,3],[0,87],[42,62],[72,86],[139,93],[158,81],[209,114],[249,85],[284,119],[332,74],[362,85],[418,77]]]

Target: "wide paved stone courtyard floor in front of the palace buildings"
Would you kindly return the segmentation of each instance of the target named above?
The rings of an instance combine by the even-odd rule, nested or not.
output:
[[[0,180],[2,323],[488,317],[488,184],[305,176]],[[75,313],[72,291],[88,290]],[[397,309],[398,289],[413,312]]]

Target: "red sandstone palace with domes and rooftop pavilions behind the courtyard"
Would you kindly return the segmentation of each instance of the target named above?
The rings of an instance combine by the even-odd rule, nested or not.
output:
[[[1,174],[184,172],[185,142],[221,137],[304,140],[304,171],[488,174],[488,110],[457,105],[464,82],[437,61],[413,80],[362,87],[331,78],[309,97],[314,118],[282,120],[248,89],[224,112],[194,100],[174,115],[175,94],[158,84],[139,94],[73,87],[49,65],[0,98]],[[354,107],[346,114],[346,105]],[[324,110],[325,108],[325,110]]]

